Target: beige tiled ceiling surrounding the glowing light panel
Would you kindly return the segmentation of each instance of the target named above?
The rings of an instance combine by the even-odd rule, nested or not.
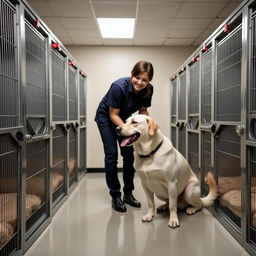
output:
[[[64,45],[199,46],[241,0],[28,1]],[[97,18],[135,18],[132,39],[102,38]]]

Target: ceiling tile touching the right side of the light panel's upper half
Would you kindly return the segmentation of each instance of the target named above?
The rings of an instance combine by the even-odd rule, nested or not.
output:
[[[170,29],[174,19],[137,19],[136,29]]]

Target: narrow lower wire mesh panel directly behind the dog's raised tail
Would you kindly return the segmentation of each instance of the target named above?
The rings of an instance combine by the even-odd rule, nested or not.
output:
[[[202,160],[202,172],[203,178],[207,176],[208,172],[212,172],[212,165],[211,165],[211,133],[202,131],[202,148],[201,148],[201,160]],[[203,183],[202,194],[207,196],[210,191],[209,185],[205,182]]]

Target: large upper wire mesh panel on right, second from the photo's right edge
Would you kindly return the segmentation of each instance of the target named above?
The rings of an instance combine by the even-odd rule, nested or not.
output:
[[[241,121],[242,26],[217,45],[216,121]]]

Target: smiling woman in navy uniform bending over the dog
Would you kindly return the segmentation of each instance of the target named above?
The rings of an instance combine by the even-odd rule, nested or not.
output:
[[[125,120],[138,110],[139,114],[148,115],[147,108],[151,106],[153,94],[153,86],[149,82],[153,78],[153,73],[150,62],[139,61],[133,67],[131,77],[113,82],[100,102],[94,119],[104,144],[106,181],[112,196],[112,207],[119,212],[126,211],[124,203],[133,207],[141,207],[141,203],[132,195],[135,172],[132,146],[120,147],[124,182],[123,201],[121,199],[121,186],[117,177],[117,141],[120,146],[124,137],[119,137],[115,128],[125,123]]]

